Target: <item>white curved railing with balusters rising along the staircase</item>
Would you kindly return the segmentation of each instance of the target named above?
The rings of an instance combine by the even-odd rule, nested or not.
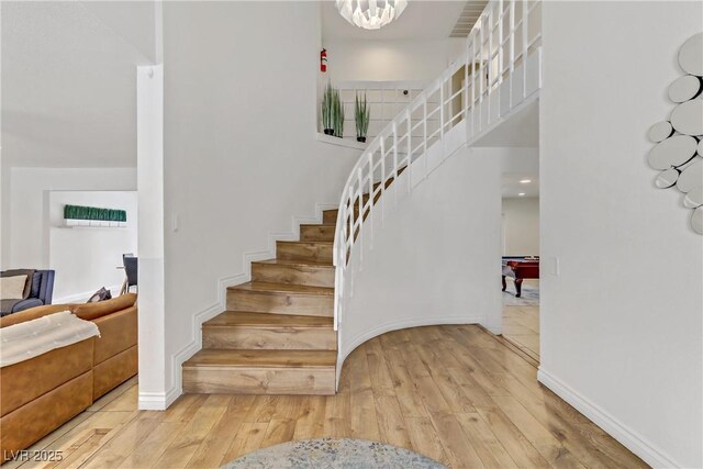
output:
[[[375,205],[386,191],[400,183],[405,170],[403,183],[411,191],[419,180],[411,172],[415,167],[423,177],[431,172],[434,148],[442,147],[445,158],[457,142],[478,137],[539,88],[540,7],[539,0],[491,0],[468,35],[462,57],[392,119],[359,157],[337,213],[335,328],[349,294],[346,280],[354,275],[354,249],[359,245],[362,263],[364,243],[373,241]]]

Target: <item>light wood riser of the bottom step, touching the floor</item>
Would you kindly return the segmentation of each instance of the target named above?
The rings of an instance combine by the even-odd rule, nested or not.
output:
[[[183,367],[183,392],[207,394],[335,393],[334,368],[212,368]]]

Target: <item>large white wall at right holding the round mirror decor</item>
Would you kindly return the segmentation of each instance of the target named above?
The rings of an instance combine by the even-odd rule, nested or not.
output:
[[[703,237],[645,159],[703,5],[543,9],[539,378],[648,464],[703,467]]]

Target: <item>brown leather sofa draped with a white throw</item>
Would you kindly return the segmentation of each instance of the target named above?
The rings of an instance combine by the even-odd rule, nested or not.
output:
[[[0,462],[88,409],[137,372],[136,294],[86,304],[52,304],[0,317],[0,327],[69,310],[100,337],[0,368]]]

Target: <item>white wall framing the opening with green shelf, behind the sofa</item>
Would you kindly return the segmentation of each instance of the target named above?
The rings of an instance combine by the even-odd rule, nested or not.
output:
[[[2,205],[3,269],[51,267],[49,191],[136,190],[135,168],[11,168],[9,172],[9,190],[3,180],[3,192],[10,194]]]

